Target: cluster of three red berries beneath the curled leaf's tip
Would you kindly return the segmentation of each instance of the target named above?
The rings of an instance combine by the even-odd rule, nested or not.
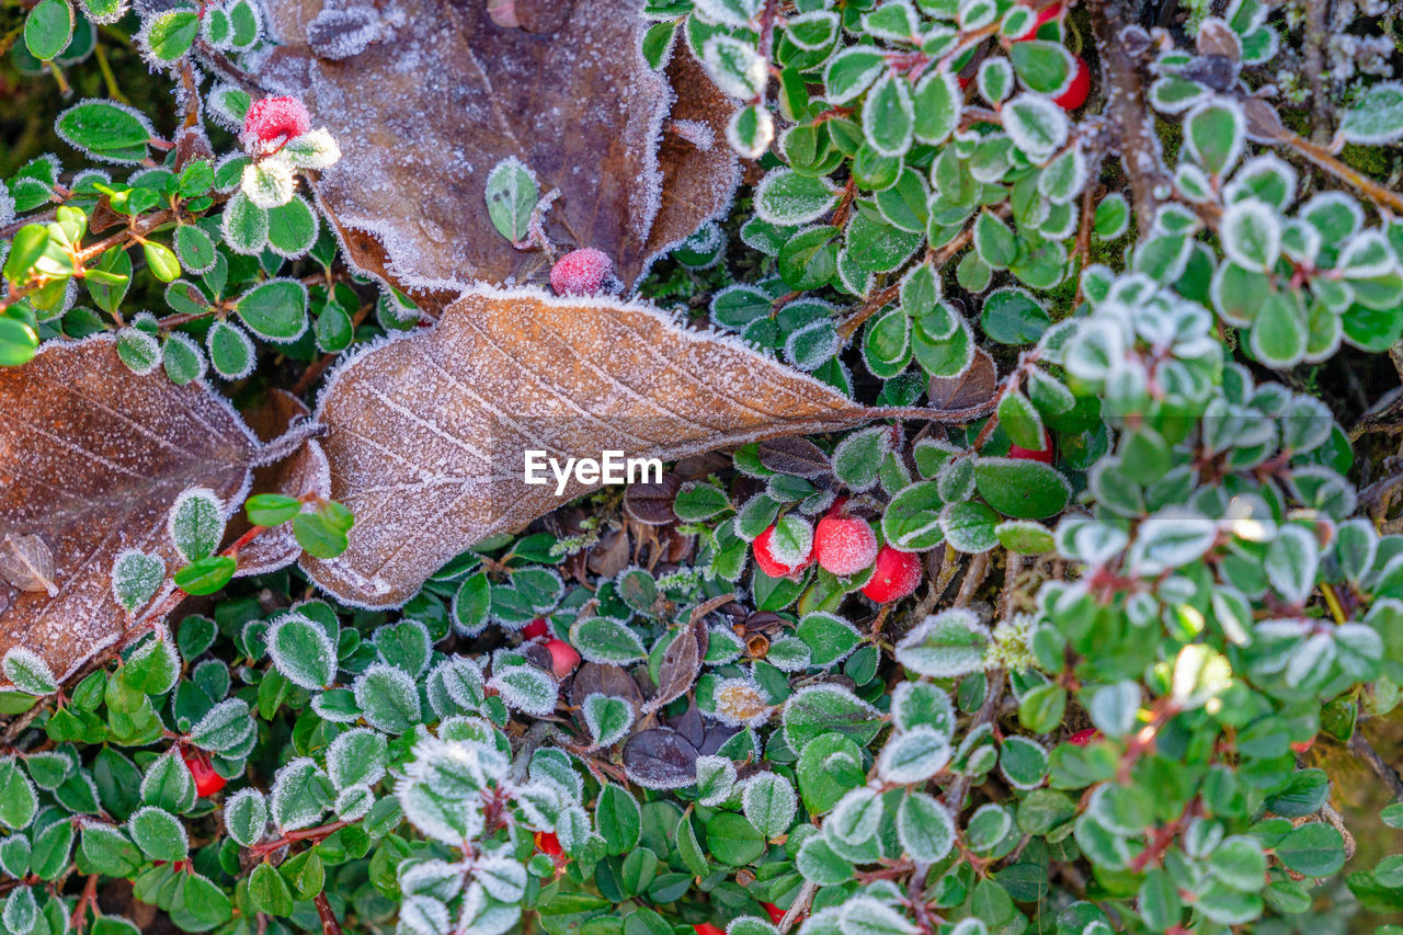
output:
[[[843,512],[843,500],[829,508],[828,515],[814,528],[814,545],[808,555],[794,564],[786,564],[774,557],[774,526],[755,536],[755,564],[772,578],[786,578],[817,562],[818,567],[849,577],[873,570],[871,578],[863,585],[863,594],[878,604],[899,601],[920,584],[920,556],[912,552],[898,552],[891,546],[877,546],[877,533],[861,517]]]

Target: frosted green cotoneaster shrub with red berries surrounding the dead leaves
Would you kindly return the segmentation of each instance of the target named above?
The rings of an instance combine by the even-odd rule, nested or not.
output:
[[[236,80],[271,42],[255,3],[25,6],[3,14],[25,81],[112,81],[97,49],[130,42],[177,107],[74,100],[62,157],[6,180],[0,364],[111,333],[133,372],[306,394],[421,323],[307,197],[338,142]],[[1403,684],[1396,468],[1368,442],[1395,424],[1340,423],[1397,379],[1395,14],[643,14],[654,67],[687,51],[735,98],[716,145],[753,187],[641,293],[866,403],[993,414],[687,459],[478,543],[394,612],[234,578],[237,511],[333,557],[345,507],[180,493],[184,563],[112,569],[140,623],[119,654],[72,684],[4,657],[0,927],[1344,932],[1403,910],[1403,856],[1347,868],[1403,804],[1347,827],[1312,754],[1403,790],[1361,727]],[[462,209],[549,257],[542,285],[622,285],[589,244],[556,256],[529,167],[480,170]],[[6,542],[13,587],[52,587],[42,543]]]

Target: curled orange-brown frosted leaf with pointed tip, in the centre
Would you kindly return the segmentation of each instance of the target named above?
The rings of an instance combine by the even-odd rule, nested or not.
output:
[[[359,606],[396,606],[450,557],[595,490],[525,456],[671,460],[846,428],[867,410],[744,344],[612,299],[476,289],[432,329],[352,357],[317,407],[331,496],[356,517],[338,559],[303,559]]]

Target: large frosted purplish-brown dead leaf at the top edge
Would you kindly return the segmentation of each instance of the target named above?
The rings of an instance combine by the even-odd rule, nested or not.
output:
[[[491,225],[487,175],[502,159],[560,192],[558,246],[603,250],[626,285],[731,204],[732,105],[685,51],[666,74],[647,66],[637,0],[265,7],[282,45],[257,77],[337,138],[341,161],[316,190],[347,253],[431,305],[549,263]]]

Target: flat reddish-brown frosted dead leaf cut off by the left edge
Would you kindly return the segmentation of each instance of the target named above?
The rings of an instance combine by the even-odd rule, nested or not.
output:
[[[112,559],[142,549],[173,570],[175,497],[206,487],[240,503],[255,449],[208,386],[137,376],[109,337],[51,343],[29,364],[0,368],[0,539],[36,536],[58,590],[0,584],[0,654],[25,646],[62,679],[116,642],[126,619]]]

